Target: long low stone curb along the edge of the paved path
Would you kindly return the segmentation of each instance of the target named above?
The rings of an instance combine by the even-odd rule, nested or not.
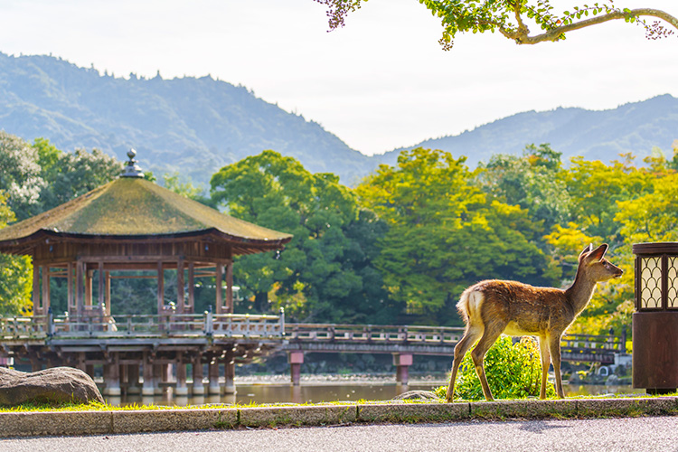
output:
[[[229,428],[678,415],[678,397],[0,413],[0,438]]]

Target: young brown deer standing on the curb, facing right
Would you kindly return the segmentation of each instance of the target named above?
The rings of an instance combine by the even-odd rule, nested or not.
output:
[[[494,400],[487,384],[483,359],[500,334],[533,335],[539,338],[541,350],[541,391],[546,398],[546,378],[552,361],[556,374],[558,397],[564,398],[560,380],[560,337],[577,315],[589,304],[596,284],[619,278],[621,268],[604,259],[607,245],[596,250],[589,245],[579,254],[579,268],[574,283],[567,290],[551,287],[532,287],[515,281],[481,281],[466,288],[457,303],[457,309],[466,322],[466,331],[455,347],[452,375],[447,387],[447,401],[455,393],[455,379],[459,364],[468,348],[478,339],[471,355],[483,386],[485,399]]]

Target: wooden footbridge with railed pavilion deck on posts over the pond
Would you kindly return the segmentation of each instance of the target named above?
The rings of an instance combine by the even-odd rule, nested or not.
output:
[[[150,395],[161,384],[185,395],[188,365],[193,394],[228,392],[234,391],[234,363],[276,352],[287,353],[295,384],[304,353],[391,353],[396,380],[406,383],[413,355],[447,355],[451,361],[463,333],[463,328],[446,326],[286,324],[282,312],[116,315],[115,320],[50,314],[0,317],[0,355],[30,363],[33,370],[71,365],[93,375],[94,366],[103,366],[108,395]],[[561,344],[562,359],[610,364],[616,354],[626,353],[625,345],[624,337],[569,334]],[[204,365],[209,389],[202,385]]]

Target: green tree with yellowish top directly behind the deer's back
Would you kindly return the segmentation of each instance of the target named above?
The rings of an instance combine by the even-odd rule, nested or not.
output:
[[[418,148],[381,165],[356,188],[389,226],[375,265],[396,301],[424,323],[459,323],[454,305],[480,279],[551,282],[527,211],[473,184],[466,158]]]

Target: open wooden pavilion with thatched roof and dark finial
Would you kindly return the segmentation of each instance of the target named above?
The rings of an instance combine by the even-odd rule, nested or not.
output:
[[[214,313],[232,313],[233,257],[280,250],[292,236],[240,221],[146,181],[134,151],[127,155],[127,166],[115,181],[0,230],[0,252],[33,258],[33,316],[51,314],[52,278],[66,281],[71,321],[109,322],[115,328],[110,306],[114,278],[156,278],[157,315],[162,317],[193,314],[195,279],[214,277]],[[175,300],[165,297],[165,270],[176,271]],[[224,350],[228,346],[237,348],[224,344]],[[63,349],[61,357],[69,350],[89,349]],[[213,363],[219,353],[226,354],[212,351],[202,360]],[[104,353],[105,359],[100,353],[76,354],[80,358],[71,353],[71,363],[83,367],[112,362],[110,353]],[[141,365],[146,359],[115,358]],[[165,363],[182,360],[181,353],[174,353]],[[201,363],[200,358],[189,362]],[[145,378],[151,378],[146,367]],[[110,372],[115,377],[118,370]]]

